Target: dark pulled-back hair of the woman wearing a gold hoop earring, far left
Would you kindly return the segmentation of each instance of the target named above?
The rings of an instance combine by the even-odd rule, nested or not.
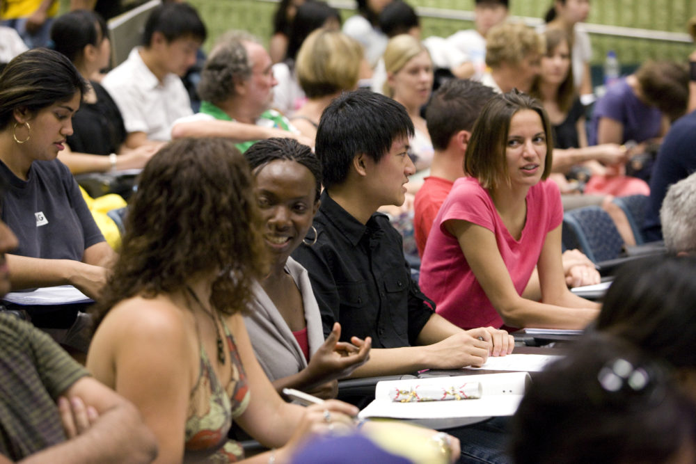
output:
[[[45,48],[25,51],[0,74],[0,130],[14,120],[15,109],[35,114],[86,91],[86,81],[65,55]]]

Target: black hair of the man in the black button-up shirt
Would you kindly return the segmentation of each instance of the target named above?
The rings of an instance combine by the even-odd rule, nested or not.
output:
[[[412,136],[413,122],[402,104],[370,90],[343,93],[326,107],[317,128],[324,187],[345,182],[357,154],[377,163],[395,138]]]

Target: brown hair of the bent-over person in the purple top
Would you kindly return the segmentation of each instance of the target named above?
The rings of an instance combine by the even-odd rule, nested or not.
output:
[[[665,113],[672,122],[686,112],[689,98],[689,72],[674,61],[646,61],[635,78],[649,104]]]

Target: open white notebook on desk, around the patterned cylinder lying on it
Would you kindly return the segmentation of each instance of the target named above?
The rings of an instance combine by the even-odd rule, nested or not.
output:
[[[414,378],[377,382],[374,401],[358,417],[391,417],[394,419],[452,419],[513,415],[530,382],[526,372],[479,374],[470,376]],[[452,385],[457,382],[480,382],[481,398],[461,401],[427,401],[424,403],[395,403],[389,390],[411,385]],[[468,421],[477,422],[477,421]],[[424,424],[428,424],[425,422]]]

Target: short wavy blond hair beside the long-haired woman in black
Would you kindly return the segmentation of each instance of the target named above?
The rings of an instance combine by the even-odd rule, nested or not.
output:
[[[497,24],[486,35],[486,64],[493,69],[503,63],[516,66],[526,56],[545,53],[541,36],[524,24]]]

